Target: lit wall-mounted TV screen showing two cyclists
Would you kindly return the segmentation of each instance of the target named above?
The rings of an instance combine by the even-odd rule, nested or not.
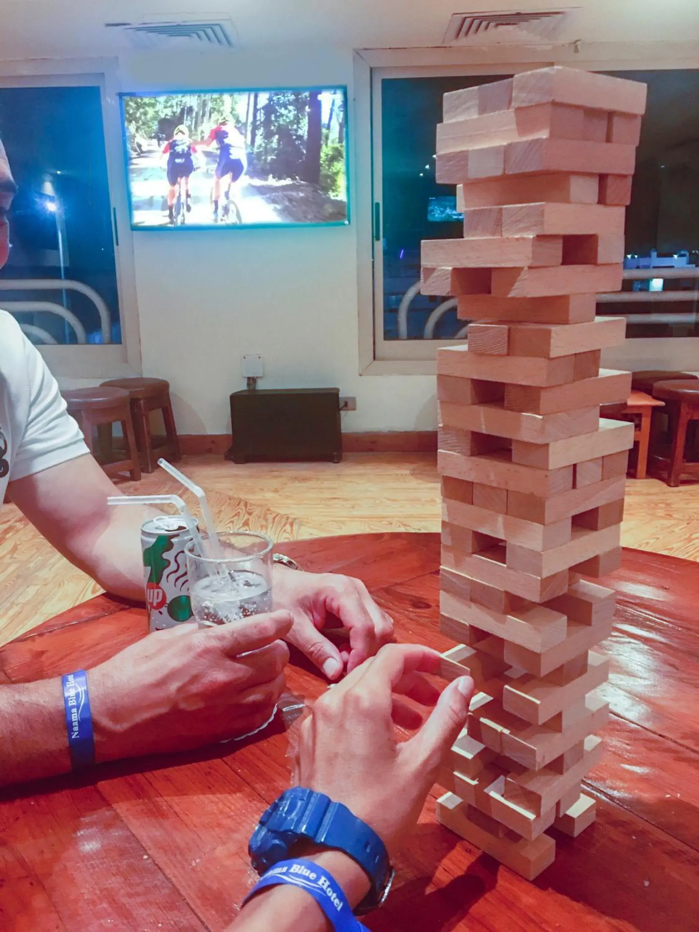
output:
[[[349,223],[345,88],[122,94],[134,229]]]

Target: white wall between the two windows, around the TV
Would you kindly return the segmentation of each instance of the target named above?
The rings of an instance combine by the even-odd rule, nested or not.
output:
[[[349,49],[133,56],[123,90],[346,84]],[[353,171],[350,148],[350,171]],[[354,185],[351,185],[352,189]],[[352,208],[354,205],[352,205]],[[357,398],[345,431],[430,430],[434,377],[359,375],[356,226],[133,233],[143,371],[171,382],[178,430],[229,430],[243,353],[261,388],[337,386]]]

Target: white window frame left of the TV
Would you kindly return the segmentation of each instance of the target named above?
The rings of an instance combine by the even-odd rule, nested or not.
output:
[[[107,185],[117,270],[120,344],[37,346],[54,376],[116,378],[141,375],[141,339],[136,303],[133,239],[118,105],[117,59],[0,62],[0,88],[98,87],[102,100]],[[0,308],[3,293],[0,292]]]

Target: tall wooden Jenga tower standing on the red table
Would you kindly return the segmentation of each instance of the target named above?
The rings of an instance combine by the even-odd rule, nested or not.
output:
[[[622,282],[646,87],[543,68],[445,94],[437,180],[459,185],[462,240],[422,244],[422,292],[455,295],[468,346],[438,352],[441,627],[447,678],[480,690],[439,783],[437,817],[532,879],[550,826],[595,818],[581,781],[609,708],[614,594],[634,428],[599,418],[631,377],[599,368]]]

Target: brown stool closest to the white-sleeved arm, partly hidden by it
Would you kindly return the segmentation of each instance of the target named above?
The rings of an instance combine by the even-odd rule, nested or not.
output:
[[[104,472],[110,476],[119,473],[129,473],[131,479],[138,481],[141,478],[141,466],[138,461],[136,439],[133,435],[133,421],[129,404],[129,392],[123,389],[106,389],[99,385],[93,389],[71,389],[63,392],[63,398],[68,405],[68,414],[77,421],[85,437],[89,452],[94,454],[93,428],[98,430],[105,425],[110,428],[114,423],[121,424],[126,444],[126,459],[117,462],[104,462]]]

